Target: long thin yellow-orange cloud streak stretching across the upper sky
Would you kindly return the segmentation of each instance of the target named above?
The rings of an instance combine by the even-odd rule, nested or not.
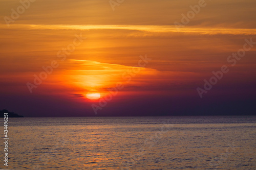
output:
[[[6,25],[0,24],[0,29],[6,29]],[[176,26],[164,25],[25,25],[15,24],[10,29],[23,30],[135,30],[152,33],[196,33],[196,34],[226,34],[226,35],[255,35],[256,29],[233,29],[233,28],[197,28],[185,27],[176,29]]]

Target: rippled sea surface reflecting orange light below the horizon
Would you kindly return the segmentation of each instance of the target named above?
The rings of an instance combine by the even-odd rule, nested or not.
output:
[[[9,118],[0,169],[256,169],[255,128],[256,116]]]

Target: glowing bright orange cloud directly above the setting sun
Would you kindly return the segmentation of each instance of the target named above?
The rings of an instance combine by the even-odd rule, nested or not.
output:
[[[130,85],[141,84],[141,79],[149,79],[157,75],[156,69],[121,64],[101,63],[89,60],[70,59],[66,63],[69,68],[59,69],[50,81],[65,84],[76,98],[89,90],[104,90],[116,86],[117,82]],[[81,94],[81,95],[79,95]]]

